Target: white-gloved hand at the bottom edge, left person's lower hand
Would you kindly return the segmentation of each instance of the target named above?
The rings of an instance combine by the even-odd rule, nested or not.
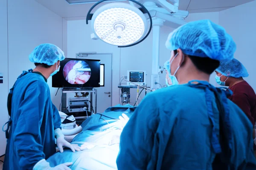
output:
[[[45,159],[42,159],[35,164],[33,170],[71,170],[69,166],[72,164],[72,162],[66,162],[64,164],[57,165],[56,167],[50,167],[49,162],[47,162]]]

